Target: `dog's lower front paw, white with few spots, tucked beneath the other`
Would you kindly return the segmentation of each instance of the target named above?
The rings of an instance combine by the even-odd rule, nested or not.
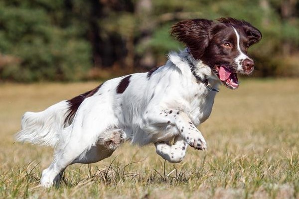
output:
[[[185,157],[187,143],[181,136],[174,138],[173,145],[166,142],[154,143],[156,147],[156,153],[168,162],[177,163],[183,160]]]

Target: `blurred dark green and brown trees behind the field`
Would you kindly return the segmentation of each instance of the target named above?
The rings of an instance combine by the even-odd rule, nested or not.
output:
[[[0,0],[0,81],[107,79],[163,65],[188,18],[235,17],[263,33],[257,77],[299,77],[298,0]]]

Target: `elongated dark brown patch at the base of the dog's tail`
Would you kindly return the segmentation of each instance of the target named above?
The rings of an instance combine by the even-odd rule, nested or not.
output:
[[[93,96],[95,93],[97,93],[97,91],[99,91],[99,89],[102,87],[103,84],[99,85],[98,87],[96,87],[95,89],[93,89],[91,91],[88,91],[84,94],[76,96],[76,97],[72,98],[71,100],[67,100],[67,102],[69,104],[69,108],[68,108],[69,113],[67,114],[64,123],[71,124],[82,101],[85,100],[86,98]]]

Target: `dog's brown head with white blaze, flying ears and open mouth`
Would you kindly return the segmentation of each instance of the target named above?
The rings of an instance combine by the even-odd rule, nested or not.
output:
[[[172,26],[171,35],[183,42],[191,55],[209,67],[230,89],[239,86],[237,73],[249,75],[254,62],[248,48],[259,42],[261,32],[244,20],[219,18],[190,19]]]

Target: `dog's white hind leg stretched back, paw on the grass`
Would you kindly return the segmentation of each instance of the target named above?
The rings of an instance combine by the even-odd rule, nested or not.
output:
[[[93,109],[89,107],[91,104],[93,104]],[[64,141],[58,146],[53,162],[42,172],[40,183],[43,187],[51,187],[57,183],[60,180],[59,173],[70,164],[97,162],[109,157],[120,144],[120,142],[110,142],[111,140],[109,140],[110,134],[120,131],[120,129],[115,128],[117,119],[114,114],[109,112],[110,109],[107,108],[107,104],[99,106],[94,104],[96,104],[94,101],[90,102],[88,99],[83,101],[73,123],[61,133]],[[106,114],[99,114],[102,111],[106,111]],[[106,142],[101,142],[101,138],[105,137],[108,137]],[[112,147],[110,147],[111,144]]]

